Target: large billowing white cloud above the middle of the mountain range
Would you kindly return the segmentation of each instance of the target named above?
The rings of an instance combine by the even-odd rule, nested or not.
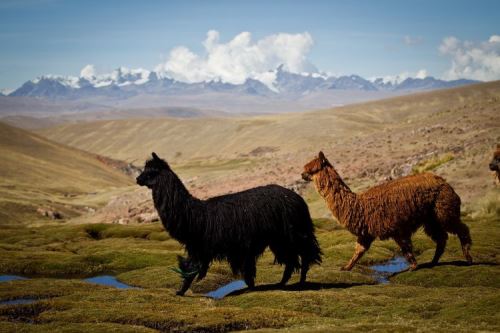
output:
[[[184,82],[221,80],[241,84],[247,78],[260,80],[270,88],[274,81],[270,71],[279,65],[293,73],[315,72],[307,60],[313,39],[307,32],[278,33],[253,41],[249,32],[236,35],[227,43],[220,41],[219,32],[210,30],[203,41],[203,54],[184,46],[172,49],[155,71]]]

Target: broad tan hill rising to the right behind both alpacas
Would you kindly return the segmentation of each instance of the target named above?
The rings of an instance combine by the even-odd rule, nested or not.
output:
[[[304,163],[322,149],[355,188],[437,161],[430,169],[468,200],[491,187],[487,163],[500,141],[499,101],[500,82],[491,82],[314,112],[110,120],[39,133],[137,165],[155,151],[200,196],[296,183]]]

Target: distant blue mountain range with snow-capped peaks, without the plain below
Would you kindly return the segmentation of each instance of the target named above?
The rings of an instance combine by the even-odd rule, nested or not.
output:
[[[472,80],[444,81],[429,76],[406,78],[400,82],[387,81],[382,78],[367,80],[358,75],[334,77],[320,73],[291,73],[283,66],[279,66],[268,74],[274,77],[271,84],[252,78],[248,78],[241,84],[220,80],[187,83],[145,69],[120,67],[111,73],[96,75],[93,67],[85,67],[79,77],[46,75],[27,81],[9,96],[77,100],[96,96],[127,99],[137,95],[178,96],[216,92],[293,100],[312,92],[332,90],[410,92],[450,88],[477,82]]]

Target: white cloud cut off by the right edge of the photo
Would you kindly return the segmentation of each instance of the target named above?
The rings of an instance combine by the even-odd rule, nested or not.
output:
[[[439,52],[451,58],[451,66],[444,74],[449,80],[460,78],[492,81],[500,79],[500,36],[492,35],[485,42],[461,41],[446,37]]]

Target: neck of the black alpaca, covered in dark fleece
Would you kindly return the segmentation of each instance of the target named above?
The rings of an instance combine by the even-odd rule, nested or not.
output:
[[[202,201],[193,197],[181,180],[172,171],[159,176],[153,188],[153,201],[165,229],[170,235],[185,243],[189,235],[195,232],[196,221],[192,218],[193,210],[202,206]]]

